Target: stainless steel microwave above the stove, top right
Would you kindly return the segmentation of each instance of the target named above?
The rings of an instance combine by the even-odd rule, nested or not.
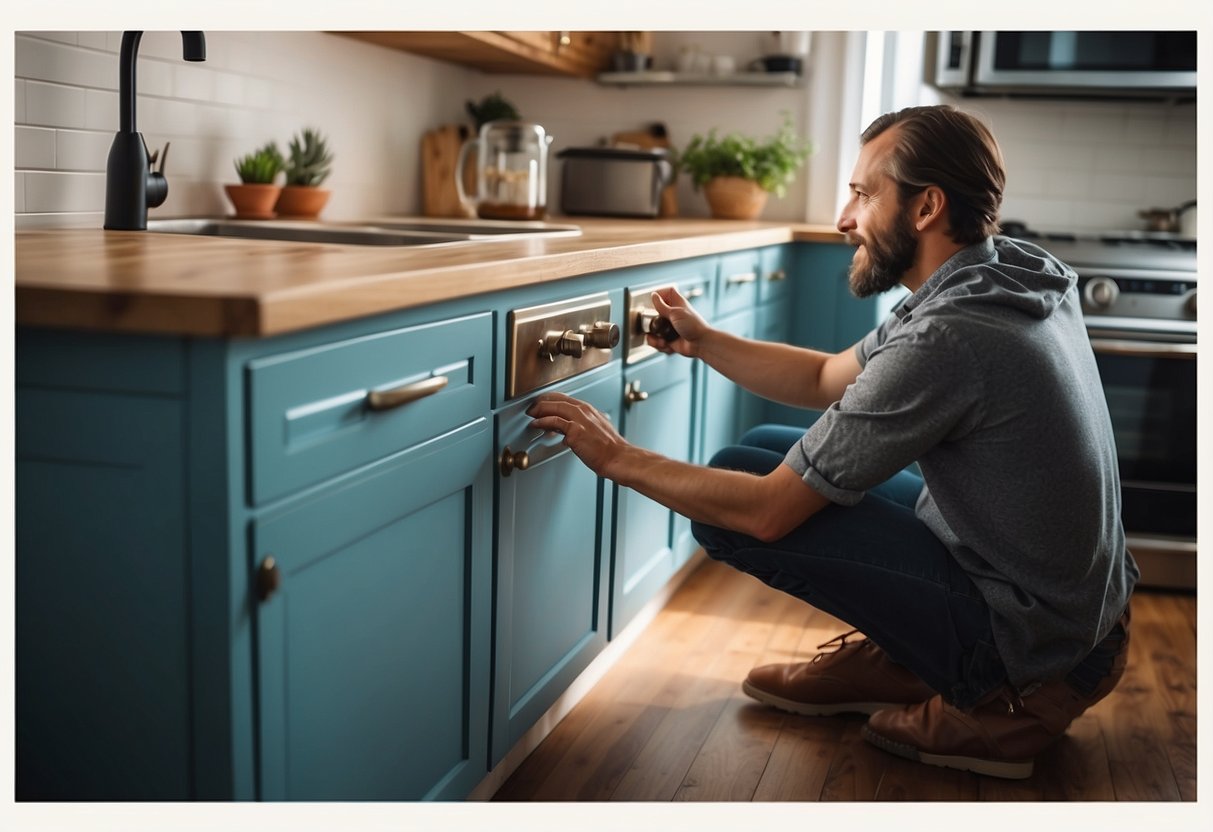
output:
[[[968,95],[1195,95],[1196,32],[936,32],[932,80]]]

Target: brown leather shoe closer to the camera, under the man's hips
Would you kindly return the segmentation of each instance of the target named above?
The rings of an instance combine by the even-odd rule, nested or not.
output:
[[[1059,679],[1023,693],[1002,688],[964,711],[934,696],[873,713],[862,736],[878,748],[929,765],[1012,780],[1030,777],[1036,754],[1065,734],[1083,711],[1107,696],[1124,674],[1128,614],[1121,619],[1121,627],[1097,648],[1109,669],[1089,694]]]

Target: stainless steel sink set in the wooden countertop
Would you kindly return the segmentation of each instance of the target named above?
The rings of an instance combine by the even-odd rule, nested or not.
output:
[[[227,220],[215,217],[149,220],[149,232],[240,237],[284,243],[336,243],[341,245],[420,246],[483,240],[577,237],[579,226],[546,222],[495,222],[491,220],[371,220],[358,223],[294,222],[285,220]]]

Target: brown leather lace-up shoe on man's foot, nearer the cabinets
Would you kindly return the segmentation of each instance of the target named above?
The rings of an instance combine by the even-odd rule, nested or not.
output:
[[[765,705],[810,717],[873,713],[935,695],[869,639],[848,642],[856,632],[818,645],[821,649],[838,642],[837,650],[819,653],[810,661],[753,668],[741,690]]]

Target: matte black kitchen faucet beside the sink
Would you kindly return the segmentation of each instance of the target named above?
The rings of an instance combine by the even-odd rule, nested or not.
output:
[[[119,125],[106,161],[106,228],[146,230],[148,209],[169,196],[169,181],[164,178],[164,153],[148,154],[143,135],[135,129],[135,58],[139,52],[142,32],[123,33],[123,51],[118,58]],[[206,59],[206,39],[201,32],[181,33],[181,57],[186,61]],[[160,169],[152,170],[156,156]]]

